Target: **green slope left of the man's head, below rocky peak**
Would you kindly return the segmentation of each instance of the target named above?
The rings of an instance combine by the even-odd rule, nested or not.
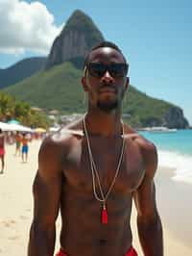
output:
[[[71,63],[56,65],[6,89],[17,98],[47,110],[78,112],[83,107],[82,71]]]

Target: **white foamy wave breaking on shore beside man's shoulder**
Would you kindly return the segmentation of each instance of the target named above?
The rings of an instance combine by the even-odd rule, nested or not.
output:
[[[174,180],[192,184],[192,156],[174,151],[158,150],[158,166],[173,168]]]

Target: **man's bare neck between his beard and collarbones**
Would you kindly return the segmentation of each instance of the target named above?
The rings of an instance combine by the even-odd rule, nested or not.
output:
[[[118,137],[122,135],[120,116],[120,113],[117,112],[88,111],[85,115],[88,133],[101,137]]]

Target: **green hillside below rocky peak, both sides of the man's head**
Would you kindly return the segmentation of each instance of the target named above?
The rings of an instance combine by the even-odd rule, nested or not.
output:
[[[84,113],[82,70],[71,63],[57,65],[6,89],[16,98],[46,110],[58,109],[61,114]],[[161,125],[170,103],[156,100],[130,87],[123,106],[134,126]]]

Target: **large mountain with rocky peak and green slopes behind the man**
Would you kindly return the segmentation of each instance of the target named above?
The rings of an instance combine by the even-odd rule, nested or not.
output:
[[[84,55],[103,39],[93,21],[83,12],[76,11],[55,39],[45,68],[5,90],[46,110],[58,109],[61,114],[84,113],[81,85]],[[149,97],[134,87],[129,89],[123,113],[133,127],[188,127],[179,107]]]

